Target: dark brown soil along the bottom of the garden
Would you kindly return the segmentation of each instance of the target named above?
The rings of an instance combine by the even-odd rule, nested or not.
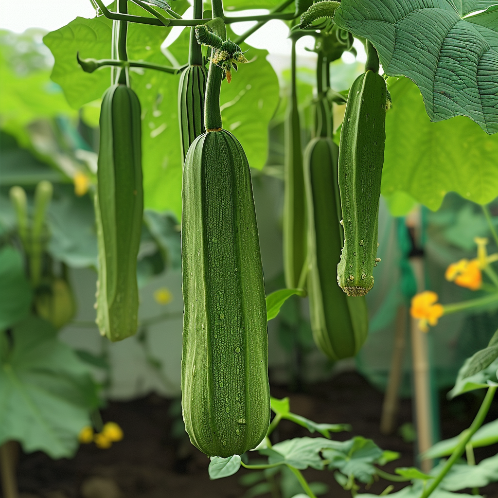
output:
[[[401,453],[401,458],[383,467],[413,465],[413,445],[399,434],[384,436],[379,431],[382,393],[358,373],[341,373],[327,382],[306,387],[303,393],[289,392],[273,386],[272,395],[290,396],[291,410],[316,422],[349,422],[351,433],[336,433],[334,439],[352,435],[372,438],[382,449]],[[442,438],[457,435],[467,428],[477,413],[480,399],[472,394],[447,401],[440,395]],[[82,445],[72,460],[53,461],[42,453],[21,455],[18,465],[19,488],[23,498],[243,498],[248,488],[240,484],[241,470],[235,476],[210,481],[208,458],[197,451],[188,439],[175,439],[175,417],[170,415],[174,401],[155,394],[127,402],[112,402],[102,410],[104,421],[116,421],[124,430],[124,440],[101,450]],[[487,421],[498,417],[495,400]],[[402,400],[398,426],[412,419],[411,401]],[[178,427],[178,419],[176,426]],[[173,429],[173,430],[172,430]],[[177,431],[178,432],[178,431]],[[272,435],[273,442],[310,435],[306,429],[282,421]],[[316,434],[315,434],[316,435]],[[476,449],[476,460],[495,455],[498,445]],[[255,456],[255,455],[254,455]],[[351,497],[329,471],[303,471],[308,482],[321,481],[329,486],[324,497]],[[374,483],[369,492],[379,494],[390,483]],[[394,483],[395,490],[402,483]],[[362,488],[360,490],[364,492]],[[470,494],[471,491],[467,490]],[[498,498],[498,483],[481,489],[489,498]],[[270,494],[261,495],[264,498]]]

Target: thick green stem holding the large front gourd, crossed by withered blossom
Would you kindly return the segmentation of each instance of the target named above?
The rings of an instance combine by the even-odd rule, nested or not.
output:
[[[227,39],[227,30],[223,22],[223,3],[222,0],[212,0],[213,21],[210,25],[213,32],[222,40]],[[211,51],[213,54],[213,50]],[[206,101],[204,104],[204,127],[206,131],[215,131],[221,129],[223,121],[220,110],[220,92],[221,82],[223,80],[223,69],[213,61],[209,63],[208,79],[206,82]]]

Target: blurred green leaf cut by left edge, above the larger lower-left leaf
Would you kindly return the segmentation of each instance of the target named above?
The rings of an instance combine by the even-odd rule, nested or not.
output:
[[[9,246],[0,249],[0,282],[1,333],[28,314],[32,299],[21,254]]]

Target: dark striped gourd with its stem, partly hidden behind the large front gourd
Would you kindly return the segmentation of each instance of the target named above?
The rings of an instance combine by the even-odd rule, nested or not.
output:
[[[202,0],[194,1],[194,18],[202,17]],[[204,129],[204,96],[208,72],[204,67],[202,50],[195,37],[195,29],[190,30],[189,65],[180,76],[178,86],[178,119],[182,162],[185,161],[190,144]]]

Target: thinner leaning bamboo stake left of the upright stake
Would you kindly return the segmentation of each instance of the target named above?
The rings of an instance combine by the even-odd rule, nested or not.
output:
[[[403,356],[406,343],[406,306],[404,304],[400,304],[398,307],[395,323],[391,369],[382,404],[382,416],[380,418],[380,432],[382,434],[392,434],[396,425],[399,386],[403,374]]]

